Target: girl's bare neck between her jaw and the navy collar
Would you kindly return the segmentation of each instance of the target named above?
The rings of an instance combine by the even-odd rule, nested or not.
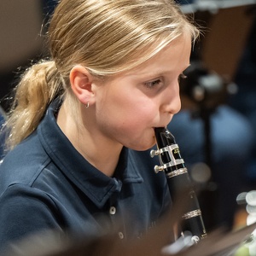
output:
[[[74,115],[67,109],[70,108],[66,107],[65,102],[63,102],[57,117],[57,124],[61,131],[73,144],[73,147],[78,150],[79,154],[84,156],[85,160],[100,172],[112,177],[123,146],[119,143],[113,143],[108,137],[104,137],[95,128],[95,125],[85,125],[81,118],[83,107],[83,110],[79,111],[79,116],[75,115],[76,119],[73,119]],[[87,113],[88,110],[86,109]],[[79,125],[78,120],[81,120],[82,125]]]

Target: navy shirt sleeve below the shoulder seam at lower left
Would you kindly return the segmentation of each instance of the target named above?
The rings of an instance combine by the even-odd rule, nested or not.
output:
[[[43,230],[61,230],[60,213],[49,195],[26,185],[9,186],[0,197],[0,251]]]

